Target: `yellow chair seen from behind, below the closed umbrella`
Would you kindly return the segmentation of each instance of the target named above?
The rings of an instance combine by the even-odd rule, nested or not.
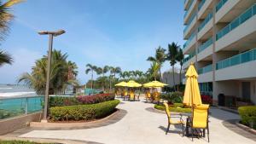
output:
[[[193,107],[193,116],[191,121],[191,132],[192,132],[192,141],[194,136],[194,131],[198,129],[203,130],[203,137],[206,135],[207,130],[207,138],[209,140],[209,105],[199,105]]]

